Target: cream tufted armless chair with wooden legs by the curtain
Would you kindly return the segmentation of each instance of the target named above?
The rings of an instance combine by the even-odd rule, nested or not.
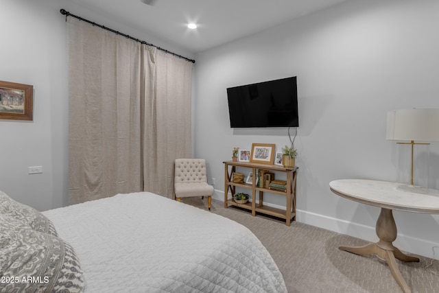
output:
[[[193,196],[207,196],[209,210],[212,204],[213,186],[207,184],[206,160],[176,159],[174,161],[175,200]]]

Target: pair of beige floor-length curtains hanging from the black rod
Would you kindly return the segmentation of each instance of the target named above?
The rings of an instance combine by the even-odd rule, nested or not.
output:
[[[171,197],[170,162],[191,154],[191,63],[73,18],[67,27],[71,204],[141,190]]]

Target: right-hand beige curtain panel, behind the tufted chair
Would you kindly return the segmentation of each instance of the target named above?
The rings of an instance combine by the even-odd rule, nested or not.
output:
[[[174,196],[174,159],[191,158],[192,63],[163,51],[149,56],[145,80],[145,190]],[[155,82],[152,82],[152,81]]]

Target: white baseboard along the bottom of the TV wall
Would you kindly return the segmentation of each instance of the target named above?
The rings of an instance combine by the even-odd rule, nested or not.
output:
[[[224,202],[224,192],[215,190],[213,198],[215,200]],[[270,204],[269,202],[264,202],[264,204],[277,209],[285,209],[285,207]],[[337,218],[328,217],[327,215],[320,215],[318,213],[311,213],[309,211],[302,211],[299,209],[296,210],[296,221],[311,226],[324,228],[340,234],[357,237],[370,242],[378,241],[378,236],[375,233],[375,226],[366,226],[363,224],[340,220]],[[430,242],[429,240],[418,239],[409,235],[398,233],[394,246],[407,253],[414,253],[415,255],[422,255],[423,257],[439,259],[439,244]]]

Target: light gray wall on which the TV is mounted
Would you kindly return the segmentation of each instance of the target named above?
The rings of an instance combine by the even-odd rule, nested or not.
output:
[[[439,107],[438,13],[438,1],[346,1],[198,54],[195,154],[209,162],[216,198],[224,200],[222,162],[234,146],[275,143],[280,150],[289,143],[287,128],[231,129],[226,88],[296,75],[298,221],[376,241],[379,209],[332,194],[329,182],[397,179],[396,143],[385,140],[387,112]],[[434,188],[438,144],[430,147]],[[265,199],[285,207],[282,196]],[[431,256],[439,246],[438,216],[396,211],[394,218],[396,244]]]

